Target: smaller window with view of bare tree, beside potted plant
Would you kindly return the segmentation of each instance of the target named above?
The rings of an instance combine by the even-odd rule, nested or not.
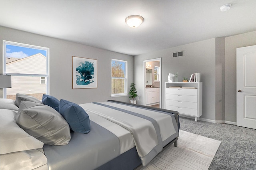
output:
[[[127,95],[127,61],[112,59],[111,96]]]

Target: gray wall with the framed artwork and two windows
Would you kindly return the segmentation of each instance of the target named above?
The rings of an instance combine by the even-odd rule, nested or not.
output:
[[[111,59],[128,61],[130,87],[133,80],[133,56],[1,26],[0,35],[1,47],[3,40],[6,40],[50,48],[50,95],[57,99],[66,99],[77,104],[108,99],[129,101],[128,96],[111,98]],[[2,48],[0,53],[2,54]],[[98,88],[72,89],[72,56],[97,59]],[[2,72],[2,55],[0,70]]]

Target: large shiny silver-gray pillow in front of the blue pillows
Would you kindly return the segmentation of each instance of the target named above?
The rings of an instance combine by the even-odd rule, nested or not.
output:
[[[44,144],[64,145],[71,139],[66,120],[48,105],[21,101],[15,120],[23,130]]]

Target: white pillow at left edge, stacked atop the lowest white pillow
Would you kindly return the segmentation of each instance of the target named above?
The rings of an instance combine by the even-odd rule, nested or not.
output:
[[[17,111],[0,109],[0,154],[38,149],[44,143],[20,128],[15,116]]]

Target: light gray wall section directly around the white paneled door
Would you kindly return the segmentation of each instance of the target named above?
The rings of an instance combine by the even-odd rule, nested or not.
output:
[[[256,45],[256,31],[226,38],[225,118],[236,122],[236,48]]]

